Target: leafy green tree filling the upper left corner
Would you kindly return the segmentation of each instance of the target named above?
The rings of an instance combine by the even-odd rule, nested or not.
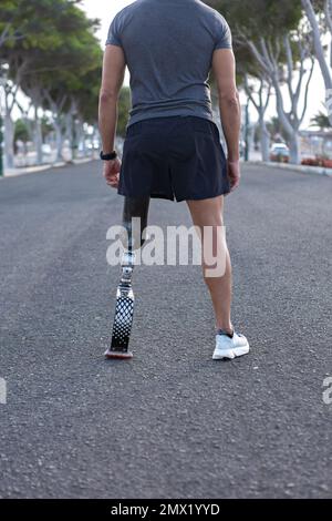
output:
[[[79,78],[95,68],[100,60],[100,45],[93,34],[96,21],[89,20],[79,9],[80,1],[15,0],[14,3],[23,23],[17,14],[13,22],[18,25],[15,39],[7,40],[0,49],[0,59],[10,67],[7,85],[7,153],[9,157],[12,155],[11,112],[21,86],[33,102],[35,143],[41,162],[39,109],[49,105],[53,111],[55,106],[59,112],[56,119],[63,119],[63,111],[70,110],[71,99],[80,88]],[[61,91],[64,100],[63,96],[59,100]]]

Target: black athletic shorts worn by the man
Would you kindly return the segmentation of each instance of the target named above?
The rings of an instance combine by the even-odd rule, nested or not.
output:
[[[127,127],[118,193],[177,202],[230,191],[217,125],[203,118],[168,116]]]

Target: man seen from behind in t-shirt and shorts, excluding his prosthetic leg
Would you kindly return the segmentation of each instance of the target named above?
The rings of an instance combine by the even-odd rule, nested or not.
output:
[[[114,152],[117,96],[125,65],[131,72],[133,109],[121,163]],[[227,142],[226,160],[214,123],[212,69]],[[199,0],[137,0],[113,20],[104,54],[100,130],[104,176],[131,197],[186,201],[194,225],[222,229],[224,196],[240,182],[240,105],[230,29],[224,17]],[[222,241],[221,241],[222,243]],[[214,359],[249,351],[230,319],[231,264],[224,241],[222,276],[205,280],[216,315]]]

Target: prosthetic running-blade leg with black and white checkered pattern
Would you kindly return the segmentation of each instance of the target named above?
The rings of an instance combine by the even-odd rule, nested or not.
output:
[[[147,226],[149,197],[125,197],[123,210],[123,226],[127,232],[127,241],[123,259],[122,276],[116,292],[115,317],[113,324],[111,347],[106,350],[106,358],[128,359],[133,354],[128,350],[133,316],[134,316],[134,292],[132,288],[132,276],[135,266],[135,251],[144,244],[143,232]],[[133,218],[138,219],[137,229],[133,228]]]

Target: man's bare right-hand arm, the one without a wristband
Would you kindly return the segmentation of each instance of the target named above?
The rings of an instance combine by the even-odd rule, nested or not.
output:
[[[212,70],[217,81],[221,125],[228,149],[228,175],[231,188],[239,185],[239,141],[241,108],[236,85],[236,61],[231,49],[217,49],[212,57]]]

